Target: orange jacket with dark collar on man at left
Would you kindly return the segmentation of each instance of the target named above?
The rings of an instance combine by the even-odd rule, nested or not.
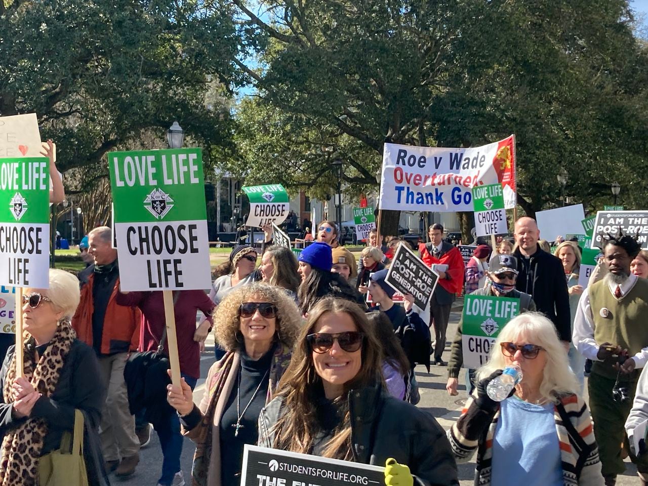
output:
[[[94,279],[94,273],[90,273],[87,283],[81,287],[81,301],[72,318],[72,327],[76,331],[76,336],[90,347],[93,345],[92,314],[95,305],[92,298],[92,285]],[[104,330],[101,336],[101,354],[128,353],[128,351],[137,351],[139,347],[142,314],[137,307],[117,305],[117,292],[119,292],[119,277],[106,307]]]

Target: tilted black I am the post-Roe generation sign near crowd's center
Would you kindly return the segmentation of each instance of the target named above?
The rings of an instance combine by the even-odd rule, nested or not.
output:
[[[385,279],[403,295],[414,296],[414,303],[423,310],[434,293],[439,275],[416,256],[416,254],[400,243],[389,266]]]

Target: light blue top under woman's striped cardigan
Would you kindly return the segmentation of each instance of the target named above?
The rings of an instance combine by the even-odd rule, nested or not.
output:
[[[553,404],[502,402],[492,443],[492,485],[562,486]]]

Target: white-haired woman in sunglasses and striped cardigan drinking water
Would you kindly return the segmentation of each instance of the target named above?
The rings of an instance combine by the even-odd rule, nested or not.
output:
[[[511,365],[520,367],[522,380],[509,398],[495,402],[487,386]],[[511,319],[477,380],[448,430],[458,462],[477,450],[475,484],[603,485],[590,412],[549,319],[537,312]]]

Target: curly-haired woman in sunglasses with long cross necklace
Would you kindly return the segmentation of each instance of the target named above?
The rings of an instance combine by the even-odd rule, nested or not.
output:
[[[301,319],[282,288],[253,283],[233,290],[214,312],[226,349],[205,382],[200,406],[191,387],[168,386],[182,432],[196,443],[192,476],[208,486],[238,485],[243,446],[257,443],[257,419],[290,362]]]

